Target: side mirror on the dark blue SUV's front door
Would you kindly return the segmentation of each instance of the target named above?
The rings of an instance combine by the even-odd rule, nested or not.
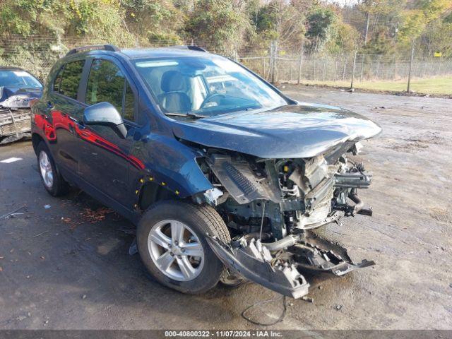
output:
[[[127,129],[121,114],[109,102],[99,102],[83,111],[83,124],[109,126],[120,138],[126,138]]]

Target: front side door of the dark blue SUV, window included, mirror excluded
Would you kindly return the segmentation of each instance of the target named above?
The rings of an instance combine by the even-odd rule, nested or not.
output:
[[[124,76],[122,66],[111,59],[93,59],[86,82],[85,103],[109,102],[124,119],[127,135],[122,137],[109,126],[78,126],[83,152],[83,179],[114,199],[131,208],[129,150],[133,143],[137,107],[136,89]],[[133,164],[132,164],[133,165]]]

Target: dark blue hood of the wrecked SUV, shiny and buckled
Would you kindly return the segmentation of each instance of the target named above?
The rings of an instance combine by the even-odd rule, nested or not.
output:
[[[346,109],[303,102],[173,123],[174,135],[186,141],[276,159],[314,157],[381,131],[374,121]]]

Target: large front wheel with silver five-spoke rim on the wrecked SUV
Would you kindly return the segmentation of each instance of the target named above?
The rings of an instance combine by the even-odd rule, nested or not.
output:
[[[225,222],[211,206],[159,201],[138,223],[138,252],[162,285],[189,294],[203,293],[217,285],[224,270],[206,233],[230,242]]]

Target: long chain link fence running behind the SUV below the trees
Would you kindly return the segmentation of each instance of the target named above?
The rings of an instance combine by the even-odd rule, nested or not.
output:
[[[120,41],[120,39],[119,39]],[[88,44],[105,44],[81,37],[0,37],[0,66],[19,66],[35,74],[42,81],[57,59],[69,49]],[[119,47],[165,47],[174,42],[143,43],[124,41]],[[225,47],[215,42],[188,41],[209,52],[225,55],[242,62],[263,78],[273,83],[316,83],[328,85],[355,85],[364,82],[405,82],[412,79],[445,78],[452,76],[452,59],[424,57],[413,49],[403,58],[374,54],[341,54],[325,56],[292,52],[276,42],[248,45],[242,49]],[[452,94],[452,88],[450,89]]]

